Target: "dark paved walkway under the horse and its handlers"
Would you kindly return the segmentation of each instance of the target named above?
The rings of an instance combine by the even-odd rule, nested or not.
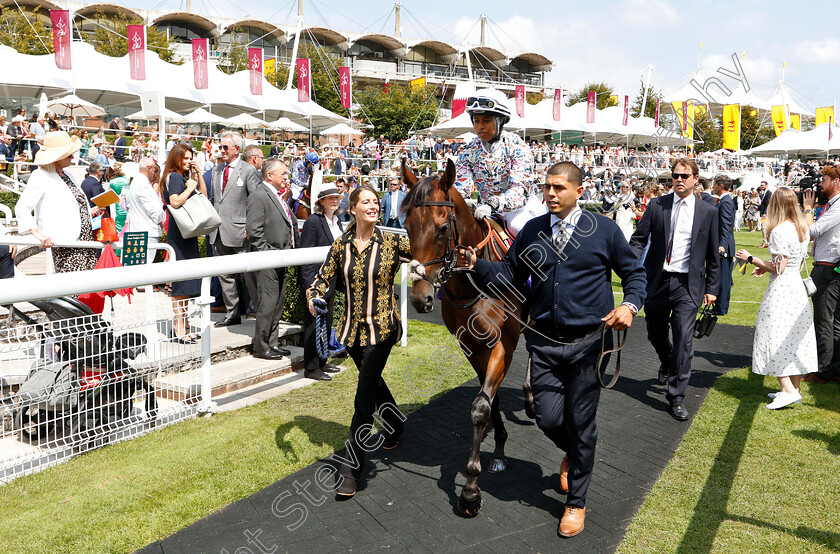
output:
[[[695,342],[685,400],[692,417],[721,373],[749,365],[751,345],[751,328],[723,325],[710,339]],[[525,359],[520,345],[501,389],[510,468],[482,474],[484,506],[478,517],[465,519],[455,508],[470,449],[469,406],[478,389],[473,379],[412,413],[400,446],[371,456],[367,481],[353,499],[336,502],[322,493],[315,484],[318,469],[327,463],[322,460],[144,552],[614,551],[690,424],[666,411],[644,322],[631,329],[621,379],[601,395],[586,528],[573,539],[556,534],[563,509],[556,492],[562,453],[522,407]],[[491,434],[482,448],[485,467],[492,448]],[[309,499],[306,491],[296,491],[296,483],[307,487]]]

